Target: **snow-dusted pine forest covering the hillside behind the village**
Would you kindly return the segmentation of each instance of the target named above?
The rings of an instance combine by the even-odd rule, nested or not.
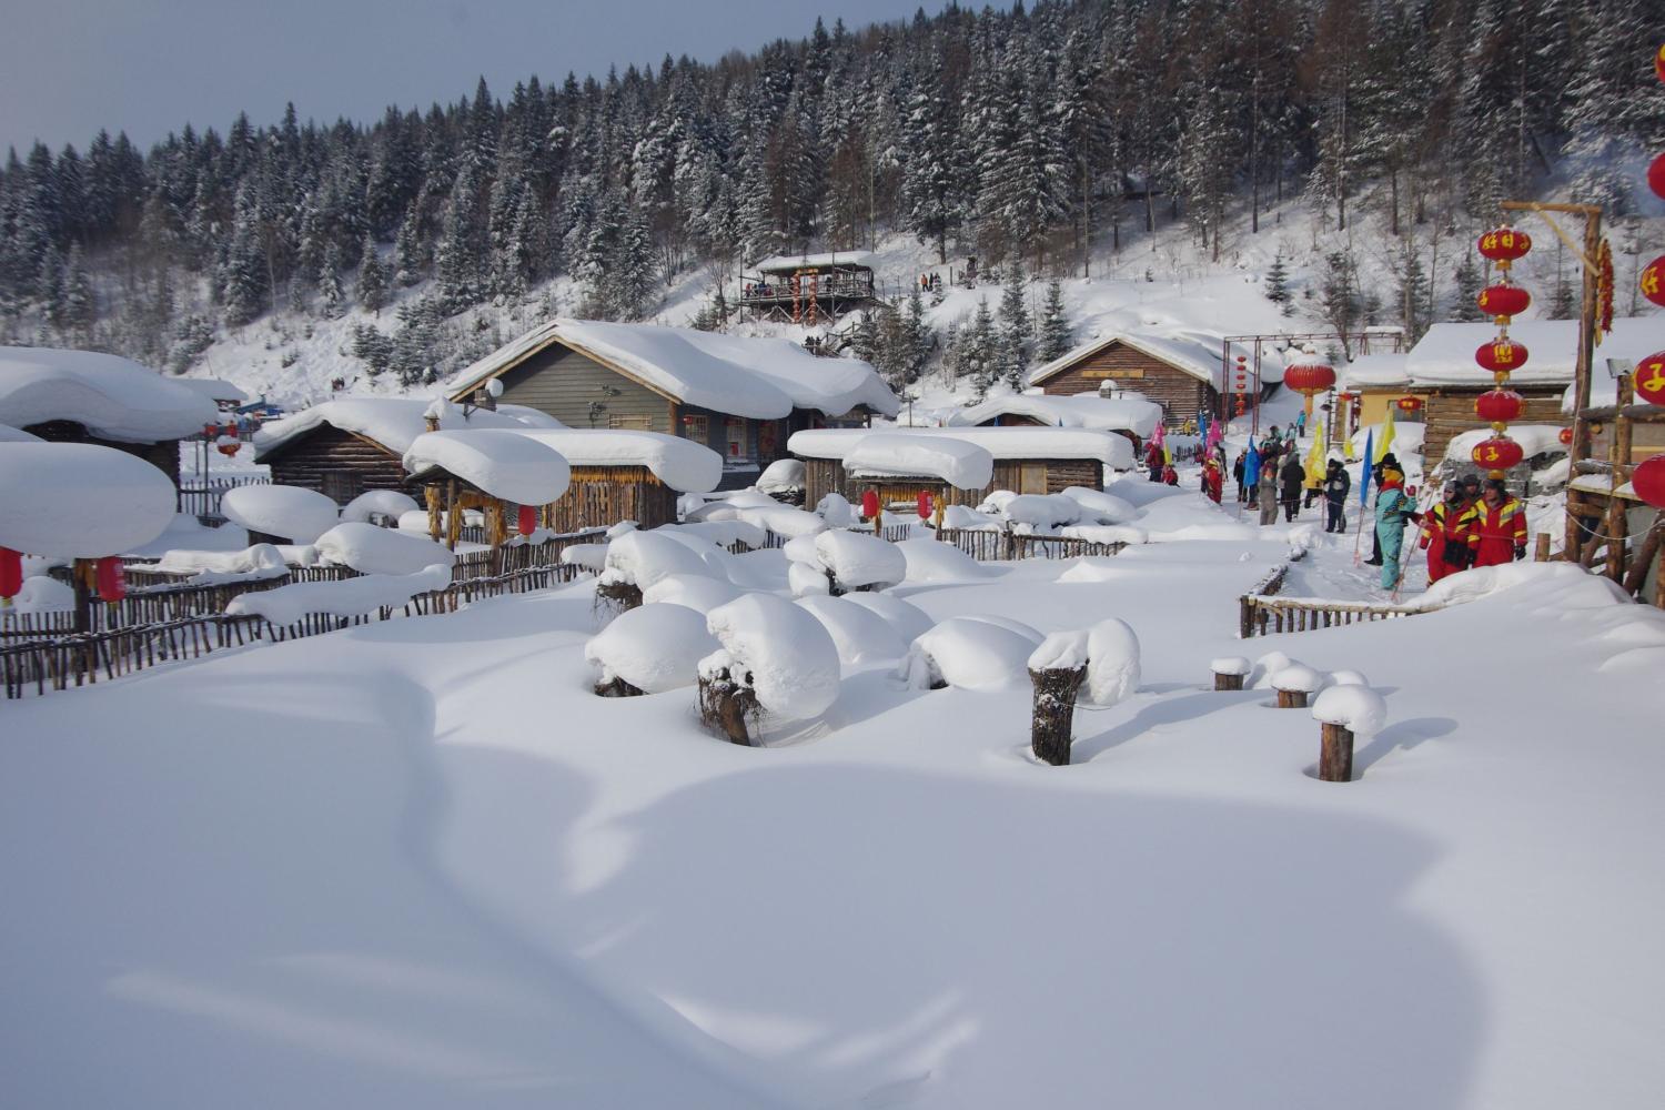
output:
[[[1360,295],[1384,285],[1354,276],[1369,260],[1314,235],[1272,260],[1267,295],[1310,273],[1315,313],[1414,336],[1477,315],[1454,236],[1503,196],[1602,203],[1620,256],[1640,256],[1647,225],[1623,218],[1662,120],[1635,95],[1637,43],[1660,15],[1657,0],[951,5],[818,22],[716,62],[529,77],[506,97],[481,82],[373,123],[291,110],[150,151],[107,133],[35,145],[0,173],[0,341],[183,373],[270,318],[285,366],[316,334],[381,388],[413,388],[490,349],[504,310],[721,326],[724,280],[779,251],[914,240],[921,261],[1081,278],[1157,233],[1219,263],[1289,203],[1325,230],[1369,221],[1394,288]],[[1543,315],[1572,296],[1568,265]],[[1006,308],[999,325],[967,313],[949,351],[976,391],[1069,339],[1056,293],[1032,339]],[[857,351],[902,384],[949,336],[917,305],[887,321]]]

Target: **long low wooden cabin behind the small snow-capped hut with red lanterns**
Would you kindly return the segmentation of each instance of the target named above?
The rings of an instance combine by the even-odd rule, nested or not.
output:
[[[1071,486],[1104,489],[1104,471],[1132,469],[1132,444],[1116,433],[1084,428],[899,428],[899,436],[951,438],[992,456],[994,476],[984,486],[956,488],[934,476],[874,476],[846,468],[864,431],[811,431],[793,436],[793,454],[804,463],[804,504],[829,493],[851,503],[877,488],[887,504],[927,491],[942,504],[977,506],[996,489],[1062,493]],[[1051,446],[1049,446],[1051,444]]]

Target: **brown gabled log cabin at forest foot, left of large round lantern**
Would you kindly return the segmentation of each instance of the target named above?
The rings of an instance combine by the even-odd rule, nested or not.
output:
[[[1204,338],[1116,333],[1099,338],[1029,376],[1047,396],[1097,393],[1116,383],[1162,406],[1166,424],[1219,411],[1220,346]]]

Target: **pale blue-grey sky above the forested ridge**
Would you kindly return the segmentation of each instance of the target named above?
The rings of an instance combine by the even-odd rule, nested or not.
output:
[[[426,108],[504,97],[536,73],[603,77],[671,53],[799,38],[821,15],[907,18],[921,0],[0,0],[0,150],[53,150],[103,126],[147,146],[190,120],[221,135],[238,110],[275,123],[368,121],[388,103]],[[942,0],[924,3],[927,12]]]

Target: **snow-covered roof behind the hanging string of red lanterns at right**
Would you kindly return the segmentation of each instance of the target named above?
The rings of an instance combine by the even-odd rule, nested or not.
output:
[[[1497,326],[1490,323],[1434,325],[1410,348],[1405,369],[1414,386],[1472,386],[1489,388],[1492,371],[1474,361],[1474,353],[1492,336]],[[1577,320],[1517,320],[1508,325],[1508,336],[1527,348],[1527,364],[1515,369],[1510,384],[1567,384],[1573,379],[1578,361]],[[1602,379],[1602,363],[1608,358],[1642,361],[1665,348],[1665,315],[1625,316],[1613,321],[1613,331],[1595,348],[1593,379]]]

